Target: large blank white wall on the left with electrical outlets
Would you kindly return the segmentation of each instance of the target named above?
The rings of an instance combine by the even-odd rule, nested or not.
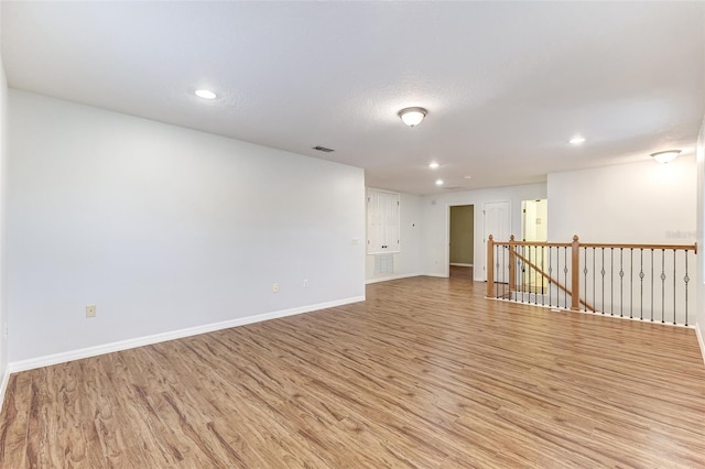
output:
[[[362,170],[17,90],[9,132],[11,362],[364,298]]]

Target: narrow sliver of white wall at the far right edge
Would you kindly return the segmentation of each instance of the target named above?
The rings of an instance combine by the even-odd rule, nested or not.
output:
[[[703,248],[705,247],[705,118],[701,126],[701,132],[697,137],[697,156],[696,156],[696,171],[697,171],[697,203],[696,203],[696,236],[697,236],[697,269],[696,269],[696,285],[697,285],[697,309],[695,317],[695,327],[697,330],[697,339],[701,343],[701,352],[703,359],[705,359],[705,255],[703,254]]]

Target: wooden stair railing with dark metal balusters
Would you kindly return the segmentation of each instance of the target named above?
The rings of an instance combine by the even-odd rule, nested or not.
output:
[[[487,297],[688,326],[696,244],[487,241]]]

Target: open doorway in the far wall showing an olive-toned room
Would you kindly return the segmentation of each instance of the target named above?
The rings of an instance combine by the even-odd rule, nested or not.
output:
[[[473,281],[475,266],[475,206],[451,206],[448,275]]]

